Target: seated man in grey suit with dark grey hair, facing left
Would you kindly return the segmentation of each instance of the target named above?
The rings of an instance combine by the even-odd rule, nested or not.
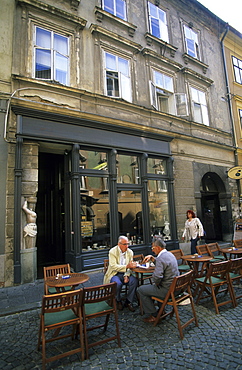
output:
[[[141,285],[137,289],[143,310],[146,314],[149,314],[144,319],[145,322],[154,322],[157,315],[156,307],[151,297],[164,299],[173,278],[180,275],[176,258],[165,247],[166,243],[161,238],[155,239],[152,243],[152,251],[157,257],[148,255],[144,258],[144,262],[151,260],[155,263],[155,271],[152,276],[154,284]]]

